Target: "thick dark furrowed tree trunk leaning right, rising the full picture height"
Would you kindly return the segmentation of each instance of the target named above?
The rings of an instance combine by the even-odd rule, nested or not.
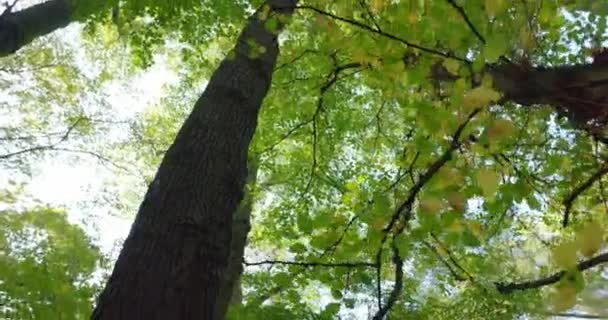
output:
[[[283,27],[278,19],[269,31],[266,20],[291,15],[296,3],[268,0],[212,75],[148,188],[92,319],[224,317],[216,309],[233,214]]]

